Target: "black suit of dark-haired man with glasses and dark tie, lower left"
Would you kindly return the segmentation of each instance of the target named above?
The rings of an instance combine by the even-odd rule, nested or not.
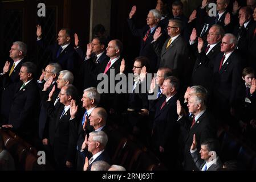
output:
[[[44,106],[48,116],[55,119],[53,149],[56,168],[67,169],[66,161],[71,162],[75,166],[77,124],[74,119],[70,120],[70,109],[60,118],[64,105],[61,105],[56,110],[54,102],[46,101]]]

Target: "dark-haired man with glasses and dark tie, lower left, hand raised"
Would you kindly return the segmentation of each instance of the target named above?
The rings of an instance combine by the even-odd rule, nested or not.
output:
[[[55,120],[53,143],[55,167],[58,170],[68,170],[75,167],[77,124],[72,120],[71,115],[73,116],[72,113],[78,109],[74,104],[77,90],[71,84],[63,86],[59,93],[62,105],[58,109],[52,101],[53,92],[54,89],[49,94],[48,101],[44,102],[44,107],[48,116]]]

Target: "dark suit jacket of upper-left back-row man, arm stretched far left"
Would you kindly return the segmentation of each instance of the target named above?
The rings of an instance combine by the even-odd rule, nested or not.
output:
[[[44,45],[43,39],[36,41],[36,43],[40,47],[44,48],[48,53],[50,53],[51,55],[50,62],[59,63],[62,66],[63,70],[67,69],[69,71],[75,71],[76,68],[79,68],[80,59],[79,59],[78,53],[76,53],[72,44],[68,45],[68,47],[66,47],[62,51],[62,53],[60,53],[60,55],[56,57],[58,49],[60,47],[58,44],[54,44],[46,47]],[[46,63],[45,65],[47,64],[48,63]]]

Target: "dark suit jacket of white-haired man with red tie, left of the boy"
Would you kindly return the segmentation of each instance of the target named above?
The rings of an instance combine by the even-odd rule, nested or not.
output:
[[[216,56],[213,68],[214,101],[218,107],[229,108],[235,106],[238,95],[238,86],[241,84],[241,58],[237,51],[231,53],[225,64],[220,62],[224,53]]]

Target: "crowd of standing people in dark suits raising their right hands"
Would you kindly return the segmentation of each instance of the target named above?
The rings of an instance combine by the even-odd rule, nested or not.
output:
[[[222,168],[218,131],[228,128],[256,144],[256,1],[246,2],[234,1],[229,12],[229,0],[202,0],[186,18],[181,1],[168,7],[158,0],[143,28],[135,25],[133,6],[127,23],[141,40],[134,61],[124,59],[129,48],[105,36],[100,25],[86,50],[77,34],[71,42],[67,28],[59,31],[58,43],[47,45],[43,25],[37,25],[36,43],[50,61],[38,78],[41,71],[26,59],[27,45],[13,43],[0,74],[2,128],[46,151],[57,170],[109,169],[113,125],[167,169]],[[132,85],[118,85],[115,78],[129,73]]]

